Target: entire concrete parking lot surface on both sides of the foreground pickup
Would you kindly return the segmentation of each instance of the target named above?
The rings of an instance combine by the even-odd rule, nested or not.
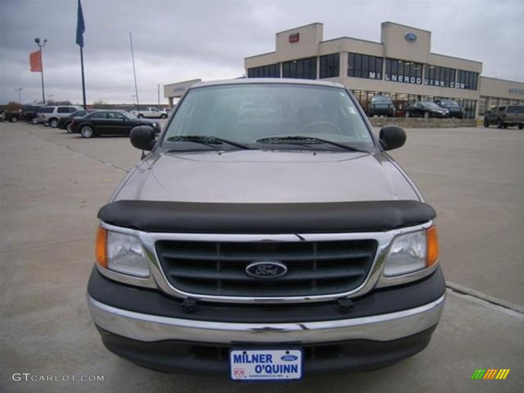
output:
[[[291,384],[165,375],[103,347],[88,314],[96,212],[139,159],[126,137],[0,124],[0,391],[522,391],[524,133],[408,129],[392,152],[438,212],[449,282],[429,347],[374,372]],[[471,380],[509,368],[505,380]],[[15,381],[103,375],[103,381]]]

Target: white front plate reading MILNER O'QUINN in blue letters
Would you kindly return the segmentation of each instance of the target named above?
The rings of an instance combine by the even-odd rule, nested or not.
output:
[[[302,350],[242,349],[230,351],[230,376],[234,380],[302,378]]]

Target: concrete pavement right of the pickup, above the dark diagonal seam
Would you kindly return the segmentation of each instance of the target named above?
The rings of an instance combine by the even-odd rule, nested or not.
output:
[[[446,279],[524,305],[524,133],[407,129],[392,156],[438,217]]]

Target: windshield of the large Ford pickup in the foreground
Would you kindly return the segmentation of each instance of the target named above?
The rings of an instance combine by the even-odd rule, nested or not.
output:
[[[180,138],[191,136],[188,138]],[[372,136],[350,95],[343,89],[294,84],[237,84],[189,91],[179,104],[161,147],[195,149],[195,136],[209,136],[255,149],[297,149],[281,138],[307,136],[370,148]],[[301,144],[300,148],[305,145]],[[199,146],[202,148],[201,146]],[[215,148],[223,146],[215,146]],[[209,148],[209,147],[208,147]],[[332,149],[336,147],[331,146]],[[339,149],[340,150],[340,149]]]

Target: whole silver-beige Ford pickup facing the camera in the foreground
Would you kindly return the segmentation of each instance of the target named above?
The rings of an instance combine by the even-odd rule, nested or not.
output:
[[[256,116],[250,114],[252,110]],[[444,306],[435,211],[343,85],[193,85],[99,213],[88,304],[161,372],[294,380],[387,366]]]

